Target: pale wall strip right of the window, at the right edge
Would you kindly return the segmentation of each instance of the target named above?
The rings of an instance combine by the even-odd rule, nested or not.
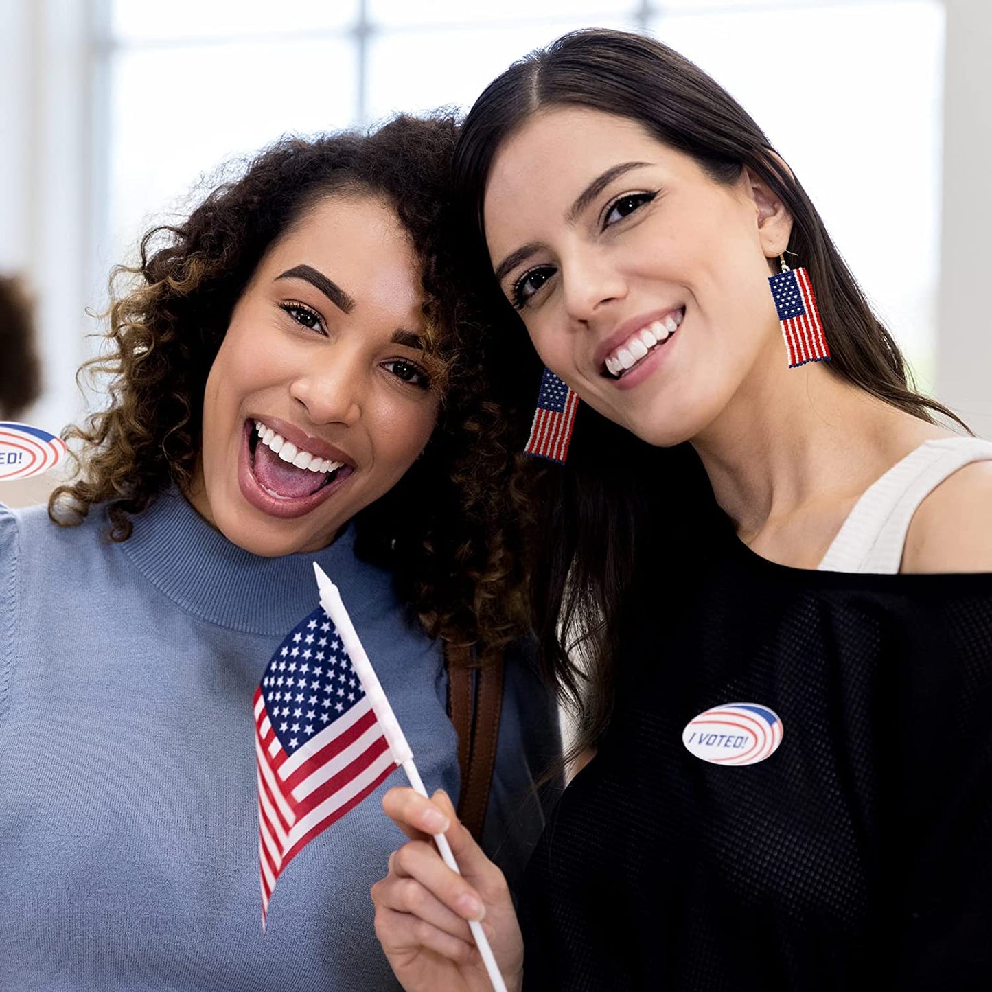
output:
[[[992,3],[945,7],[937,394],[992,438]]]

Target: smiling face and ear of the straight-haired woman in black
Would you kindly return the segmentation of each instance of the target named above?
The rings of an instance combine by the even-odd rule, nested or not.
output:
[[[500,149],[484,222],[545,364],[649,443],[700,434],[785,361],[767,279],[791,220],[747,171],[720,184],[636,121],[555,107]]]

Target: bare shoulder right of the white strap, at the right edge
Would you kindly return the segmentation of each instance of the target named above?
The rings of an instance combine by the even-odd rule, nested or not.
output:
[[[992,572],[992,461],[958,469],[921,503],[904,572]]]

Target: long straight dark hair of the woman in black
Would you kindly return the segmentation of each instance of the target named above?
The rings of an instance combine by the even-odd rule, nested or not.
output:
[[[589,107],[636,120],[659,141],[691,156],[714,182],[733,183],[745,167],[764,180],[792,214],[788,250],[794,267],[804,266],[816,288],[833,372],[922,420],[937,413],[961,423],[908,383],[892,335],[872,313],[806,191],[761,128],[696,65],[641,35],[605,30],[565,35],[514,63],[475,101],[455,149],[454,183],[479,269],[491,272],[482,203],[493,160],[536,111],[553,106]],[[485,278],[490,305],[505,314],[492,352],[505,363],[498,379],[507,390],[507,409],[519,412],[520,433],[533,408],[540,363],[526,343],[523,322],[491,275]],[[609,721],[636,550],[643,552],[650,542],[662,556],[661,594],[691,569],[707,536],[728,522],[688,444],[653,448],[585,406],[567,465],[532,470],[530,476],[539,515],[532,546],[535,625],[545,675],[578,712],[577,751],[594,745]],[[665,528],[656,523],[657,508],[648,505],[652,497],[665,507]]]

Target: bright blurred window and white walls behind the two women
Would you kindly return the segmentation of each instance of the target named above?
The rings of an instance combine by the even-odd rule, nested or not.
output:
[[[0,277],[34,302],[43,372],[20,419],[83,414],[110,268],[246,156],[467,108],[585,26],[652,34],[743,103],[919,385],[992,436],[986,0],[0,0]]]

